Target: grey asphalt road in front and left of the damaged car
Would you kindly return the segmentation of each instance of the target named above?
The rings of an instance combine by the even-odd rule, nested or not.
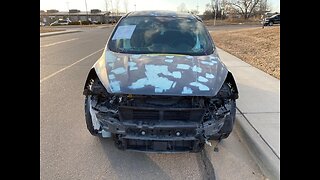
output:
[[[40,179],[215,179],[203,153],[121,151],[111,140],[89,134],[83,85],[111,30],[92,28],[40,38]],[[214,158],[222,164],[218,173],[228,174],[227,166],[243,167],[244,162],[250,165],[246,171],[258,172],[237,135],[232,133],[230,139],[223,141]],[[230,161],[230,149],[236,151],[231,160],[236,155],[238,162]]]

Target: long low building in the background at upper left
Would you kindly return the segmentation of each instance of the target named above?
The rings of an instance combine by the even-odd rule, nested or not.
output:
[[[97,21],[100,23],[109,23],[111,21],[118,21],[125,13],[111,13],[102,12],[99,9],[92,9],[90,12],[81,12],[77,9],[70,9],[69,12],[59,12],[58,10],[51,9],[47,12],[40,11],[40,22],[49,25],[59,19],[69,19],[72,22],[78,21]]]

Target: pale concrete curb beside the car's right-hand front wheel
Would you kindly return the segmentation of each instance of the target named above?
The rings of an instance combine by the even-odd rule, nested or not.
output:
[[[280,179],[280,159],[242,114],[237,114],[234,130],[247,146],[263,174],[272,180]]]

